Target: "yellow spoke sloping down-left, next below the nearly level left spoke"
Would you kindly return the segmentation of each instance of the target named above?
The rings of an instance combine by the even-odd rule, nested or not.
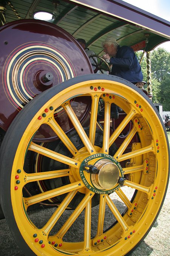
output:
[[[28,198],[23,197],[23,202],[25,204],[25,208],[27,209],[31,204],[39,203],[46,199],[53,198],[54,196],[58,196],[58,195],[67,193],[72,190],[76,190],[83,186],[84,186],[83,183],[81,183],[80,181],[77,181],[77,182],[65,185],[63,187],[55,188],[55,189],[40,193],[35,196],[30,196]]]

